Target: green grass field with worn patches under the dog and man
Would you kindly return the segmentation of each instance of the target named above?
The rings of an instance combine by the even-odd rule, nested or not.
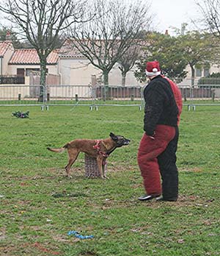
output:
[[[177,202],[139,202],[138,107],[1,107],[0,255],[220,255],[220,109],[184,107]],[[11,116],[30,111],[29,119]],[[48,152],[75,138],[131,138],[108,160],[110,179],[84,177],[84,155],[65,177],[67,154]],[[80,239],[67,235],[76,230]]]

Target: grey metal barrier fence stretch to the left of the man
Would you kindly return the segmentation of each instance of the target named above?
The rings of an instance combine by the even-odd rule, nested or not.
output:
[[[90,85],[1,85],[0,106],[138,106],[141,87]]]

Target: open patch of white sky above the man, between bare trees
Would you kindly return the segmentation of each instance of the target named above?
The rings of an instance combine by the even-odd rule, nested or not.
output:
[[[170,27],[181,29],[183,23],[188,24],[188,29],[193,29],[194,25],[191,23],[191,19],[199,18],[200,14],[195,0],[151,1],[151,10],[155,13],[156,30],[164,33],[168,29],[170,35],[174,32],[174,29]]]

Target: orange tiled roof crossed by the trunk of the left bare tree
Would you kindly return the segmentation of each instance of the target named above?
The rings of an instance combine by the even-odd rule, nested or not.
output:
[[[52,51],[48,58],[48,64],[56,64],[58,62],[58,53]],[[35,64],[40,65],[40,59],[35,49],[16,49],[12,54],[9,64]]]

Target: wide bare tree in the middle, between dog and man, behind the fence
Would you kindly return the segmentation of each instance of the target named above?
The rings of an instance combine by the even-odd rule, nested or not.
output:
[[[95,0],[91,7],[91,12],[97,13],[95,20],[70,29],[73,47],[102,71],[104,85],[109,85],[111,68],[149,26],[148,8],[149,4],[140,1]]]

